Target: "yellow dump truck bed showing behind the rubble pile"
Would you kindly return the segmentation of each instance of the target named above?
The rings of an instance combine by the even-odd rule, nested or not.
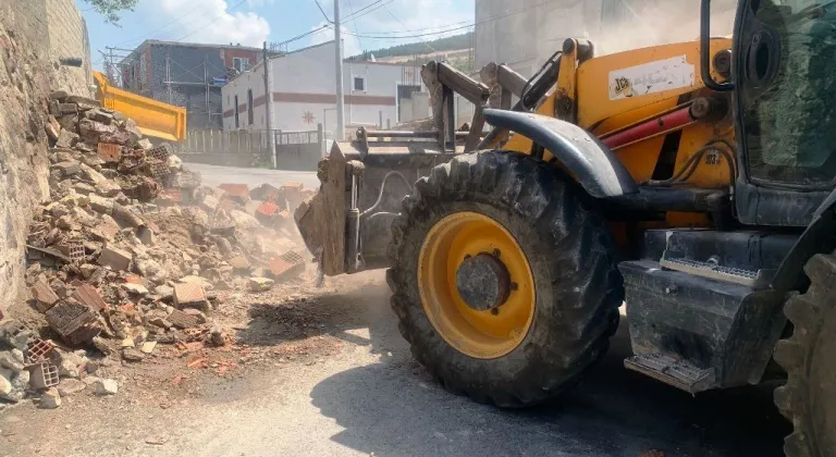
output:
[[[186,138],[186,109],[163,103],[127,90],[113,87],[108,78],[93,72],[96,79],[96,99],[104,108],[120,111],[136,121],[139,131],[155,138],[182,141]]]

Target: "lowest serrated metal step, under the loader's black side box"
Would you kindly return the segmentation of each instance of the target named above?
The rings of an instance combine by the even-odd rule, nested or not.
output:
[[[690,394],[708,391],[716,384],[713,368],[701,369],[662,353],[630,357],[624,360],[624,367]]]

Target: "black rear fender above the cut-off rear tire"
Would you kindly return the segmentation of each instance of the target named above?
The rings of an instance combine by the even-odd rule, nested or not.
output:
[[[813,213],[813,221],[796,240],[792,249],[778,267],[772,287],[776,291],[798,291],[807,282],[804,265],[816,254],[836,249],[836,189],[824,199]]]

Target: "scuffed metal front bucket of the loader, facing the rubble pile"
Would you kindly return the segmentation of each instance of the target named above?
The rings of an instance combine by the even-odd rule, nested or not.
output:
[[[308,250],[329,276],[388,267],[390,225],[402,200],[419,177],[463,151],[442,148],[435,132],[361,129],[358,138],[334,143],[319,164],[319,192],[295,213]]]

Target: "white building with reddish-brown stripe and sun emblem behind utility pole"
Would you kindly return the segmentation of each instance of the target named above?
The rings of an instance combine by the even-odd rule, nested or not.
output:
[[[269,75],[272,126],[285,132],[327,132],[336,127],[334,41],[271,58]],[[420,67],[380,62],[345,61],[343,65],[345,124],[393,126],[401,104],[421,90]],[[266,129],[263,66],[258,64],[222,90],[224,129]],[[429,112],[425,114],[429,116]],[[330,136],[330,135],[329,135]]]

